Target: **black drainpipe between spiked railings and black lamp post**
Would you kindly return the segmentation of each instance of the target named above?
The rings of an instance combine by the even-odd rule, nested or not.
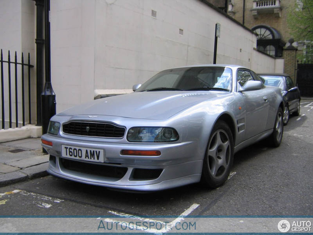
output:
[[[36,81],[37,81],[37,126],[42,125],[41,92],[44,83],[44,0],[36,2]]]

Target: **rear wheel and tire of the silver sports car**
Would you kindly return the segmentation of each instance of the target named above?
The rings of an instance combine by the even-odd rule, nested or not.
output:
[[[273,128],[272,134],[268,138],[268,143],[272,147],[280,146],[281,140],[283,138],[284,133],[284,125],[283,125],[283,110],[281,107],[278,108],[275,124]]]

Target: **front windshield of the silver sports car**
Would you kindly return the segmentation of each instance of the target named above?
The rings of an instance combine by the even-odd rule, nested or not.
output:
[[[232,87],[232,70],[226,67],[188,67],[164,70],[136,91],[223,90]]]

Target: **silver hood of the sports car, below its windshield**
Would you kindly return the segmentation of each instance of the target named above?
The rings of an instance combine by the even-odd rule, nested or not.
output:
[[[108,115],[125,118],[167,119],[196,103],[223,95],[225,91],[146,91],[102,98],[58,115]]]

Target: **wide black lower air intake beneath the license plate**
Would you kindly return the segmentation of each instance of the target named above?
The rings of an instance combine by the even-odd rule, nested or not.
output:
[[[59,164],[67,170],[72,170],[88,175],[121,179],[127,172],[127,167],[97,165],[87,162],[78,162],[68,159],[60,159]]]

